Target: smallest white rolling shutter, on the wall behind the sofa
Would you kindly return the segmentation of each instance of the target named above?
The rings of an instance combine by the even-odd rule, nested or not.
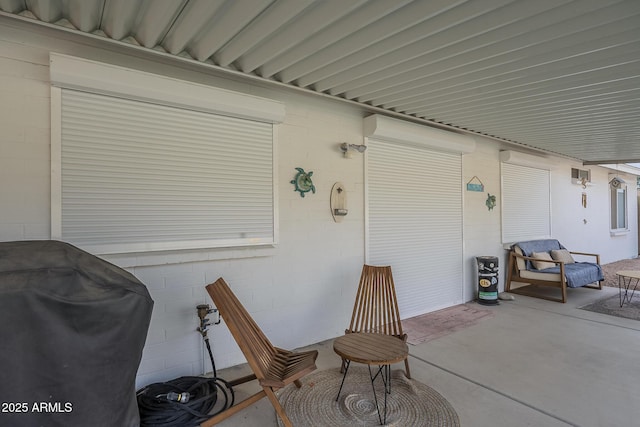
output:
[[[548,170],[501,163],[502,242],[551,236]]]

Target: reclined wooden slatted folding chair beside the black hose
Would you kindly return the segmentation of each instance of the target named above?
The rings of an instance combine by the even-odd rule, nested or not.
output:
[[[316,369],[318,352],[292,352],[271,345],[222,277],[206,289],[253,371],[253,375],[230,383],[237,385],[257,379],[262,390],[209,418],[201,426],[213,426],[266,396],[282,423],[292,427],[274,391],[290,383],[301,387],[299,379]]]

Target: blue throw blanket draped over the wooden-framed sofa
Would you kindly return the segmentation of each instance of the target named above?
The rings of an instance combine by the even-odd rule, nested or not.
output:
[[[534,252],[549,252],[555,249],[566,249],[556,239],[528,240],[526,242],[516,243],[522,250],[524,256],[531,256]],[[555,273],[560,274],[560,266],[547,268],[545,270],[536,270],[527,261],[527,270],[537,271],[539,273]],[[602,268],[598,264],[592,262],[576,262],[564,265],[564,274],[567,277],[567,286],[570,288],[579,288],[590,283],[604,280]]]

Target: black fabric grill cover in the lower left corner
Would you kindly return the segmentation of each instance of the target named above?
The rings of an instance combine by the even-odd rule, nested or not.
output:
[[[132,274],[72,245],[0,243],[0,426],[138,426],[152,308]]]

